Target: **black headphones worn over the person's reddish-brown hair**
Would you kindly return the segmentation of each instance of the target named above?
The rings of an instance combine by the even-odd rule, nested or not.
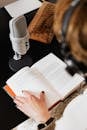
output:
[[[63,16],[63,22],[62,22],[62,41],[61,41],[61,54],[64,58],[65,63],[67,64],[66,70],[71,74],[75,74],[76,72],[80,72],[78,62],[74,59],[74,57],[70,53],[70,49],[68,47],[68,44],[66,44],[66,34],[67,34],[67,28],[69,25],[70,18],[72,17],[73,12],[80,4],[80,0],[73,0],[65,12]]]

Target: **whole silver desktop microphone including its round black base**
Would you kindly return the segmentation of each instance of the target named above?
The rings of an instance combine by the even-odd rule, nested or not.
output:
[[[9,66],[13,71],[17,71],[26,65],[31,65],[31,58],[27,55],[30,44],[25,16],[12,18],[9,21],[9,29],[9,38],[14,51],[14,56],[10,59]]]

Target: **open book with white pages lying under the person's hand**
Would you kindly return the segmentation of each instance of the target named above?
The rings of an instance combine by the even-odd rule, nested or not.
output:
[[[23,67],[6,81],[4,89],[12,97],[22,95],[22,90],[29,90],[36,96],[45,91],[48,109],[64,100],[75,91],[84,80],[79,74],[71,76],[66,71],[66,64],[50,53],[32,67]]]

